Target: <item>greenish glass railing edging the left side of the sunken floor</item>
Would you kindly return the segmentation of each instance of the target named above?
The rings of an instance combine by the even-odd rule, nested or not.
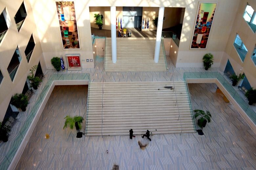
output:
[[[34,116],[39,109],[46,93],[48,92],[49,88],[51,87],[51,84],[54,80],[89,80],[90,81],[90,74],[52,74],[50,78],[47,80],[46,84],[44,85],[43,90],[39,94],[37,100],[35,101],[34,106],[32,107],[32,110],[28,114],[26,120],[24,121],[23,125],[21,126],[21,129],[19,130],[17,136],[13,140],[10,149],[8,150],[7,154],[5,155],[3,161],[0,164],[1,170],[8,169],[14,155],[16,154],[25,134],[27,133],[31,122],[34,119]],[[87,112],[87,118],[88,118],[88,112]]]

